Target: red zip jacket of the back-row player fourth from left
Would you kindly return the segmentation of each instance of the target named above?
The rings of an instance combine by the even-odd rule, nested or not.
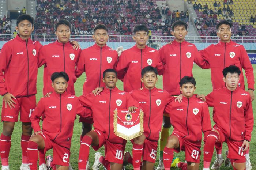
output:
[[[162,74],[163,64],[156,49],[148,46],[144,49],[139,49],[135,44],[132,48],[122,52],[116,71],[118,78],[123,78],[124,80],[124,91],[130,92],[133,89],[142,87],[143,83],[140,81],[140,73],[148,65],[156,67],[158,74]]]

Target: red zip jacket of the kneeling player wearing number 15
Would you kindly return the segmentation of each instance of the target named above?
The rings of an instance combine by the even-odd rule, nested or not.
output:
[[[139,102],[144,112],[143,128],[146,139],[158,141],[163,122],[163,110],[174,97],[170,96],[167,91],[156,87],[151,90],[147,88],[132,90],[130,94]]]

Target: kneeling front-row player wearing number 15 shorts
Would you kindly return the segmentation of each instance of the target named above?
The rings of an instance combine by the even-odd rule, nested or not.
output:
[[[142,155],[142,170],[154,169],[159,132],[161,131],[161,122],[163,121],[163,110],[167,103],[174,99],[174,97],[170,96],[168,92],[155,87],[155,84],[158,81],[157,75],[158,72],[156,68],[152,66],[143,68],[140,78],[142,83],[144,83],[143,90],[138,89],[130,92],[132,97],[139,102],[139,105],[143,109],[143,129],[144,135],[146,136],[144,144],[133,144],[133,159],[129,158],[129,152],[125,153],[124,157],[129,161],[129,163],[133,164],[134,170],[140,169],[140,160]]]

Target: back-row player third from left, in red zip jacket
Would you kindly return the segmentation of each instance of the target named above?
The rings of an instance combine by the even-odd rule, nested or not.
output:
[[[104,24],[98,24],[94,28],[93,39],[95,44],[89,48],[82,50],[79,58],[76,76],[79,77],[83,72],[86,73],[86,81],[83,85],[83,95],[91,93],[95,87],[104,87],[102,81],[102,72],[109,68],[114,68],[117,63],[117,52],[106,45],[108,42],[108,29]],[[82,122],[83,136],[91,131],[93,120],[91,118],[80,117],[79,122]],[[89,164],[88,164],[89,165]]]

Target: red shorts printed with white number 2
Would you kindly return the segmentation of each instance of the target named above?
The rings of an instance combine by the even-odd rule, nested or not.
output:
[[[53,149],[53,164],[61,166],[69,166],[70,146],[62,147],[54,143],[47,135],[41,134],[45,141],[44,154],[46,151]]]

